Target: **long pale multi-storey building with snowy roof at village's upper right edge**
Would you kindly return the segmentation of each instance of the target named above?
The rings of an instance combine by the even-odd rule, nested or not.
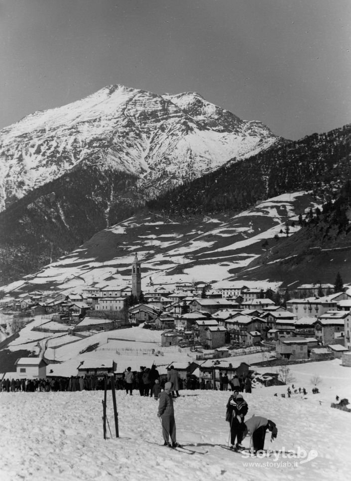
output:
[[[297,319],[301,317],[319,317],[329,310],[337,309],[339,301],[347,299],[351,299],[349,294],[337,292],[324,297],[290,299],[286,302],[286,307],[289,312],[296,315]]]

